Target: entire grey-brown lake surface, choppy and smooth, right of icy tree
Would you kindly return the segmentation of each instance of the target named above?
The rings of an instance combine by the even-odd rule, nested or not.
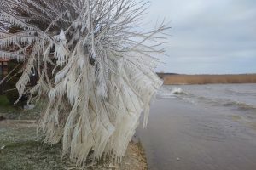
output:
[[[149,169],[256,169],[256,84],[163,86],[137,130]]]

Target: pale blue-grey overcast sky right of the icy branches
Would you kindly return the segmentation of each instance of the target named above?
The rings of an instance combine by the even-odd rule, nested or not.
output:
[[[151,0],[147,20],[172,29],[157,71],[256,72],[256,0]]]

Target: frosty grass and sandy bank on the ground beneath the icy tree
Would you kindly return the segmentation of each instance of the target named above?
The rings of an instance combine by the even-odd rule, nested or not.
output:
[[[35,120],[5,119],[0,121],[1,169],[148,169],[145,152],[140,141],[132,140],[130,142],[120,164],[113,165],[109,161],[101,161],[96,165],[76,167],[67,156],[61,160],[61,144],[44,144],[42,138],[36,137],[36,127]]]

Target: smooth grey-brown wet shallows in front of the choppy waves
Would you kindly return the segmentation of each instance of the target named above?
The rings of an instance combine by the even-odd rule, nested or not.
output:
[[[150,170],[255,170],[256,129],[235,112],[155,99],[137,136]],[[255,123],[253,123],[255,125]]]

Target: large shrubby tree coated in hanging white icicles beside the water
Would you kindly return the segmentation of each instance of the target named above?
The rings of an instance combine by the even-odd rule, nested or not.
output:
[[[138,31],[147,8],[133,0],[0,0],[2,25],[19,28],[0,32],[0,58],[23,62],[20,97],[48,101],[44,142],[62,139],[63,156],[78,165],[90,150],[94,161],[121,161],[141,114],[146,126],[166,30]]]

